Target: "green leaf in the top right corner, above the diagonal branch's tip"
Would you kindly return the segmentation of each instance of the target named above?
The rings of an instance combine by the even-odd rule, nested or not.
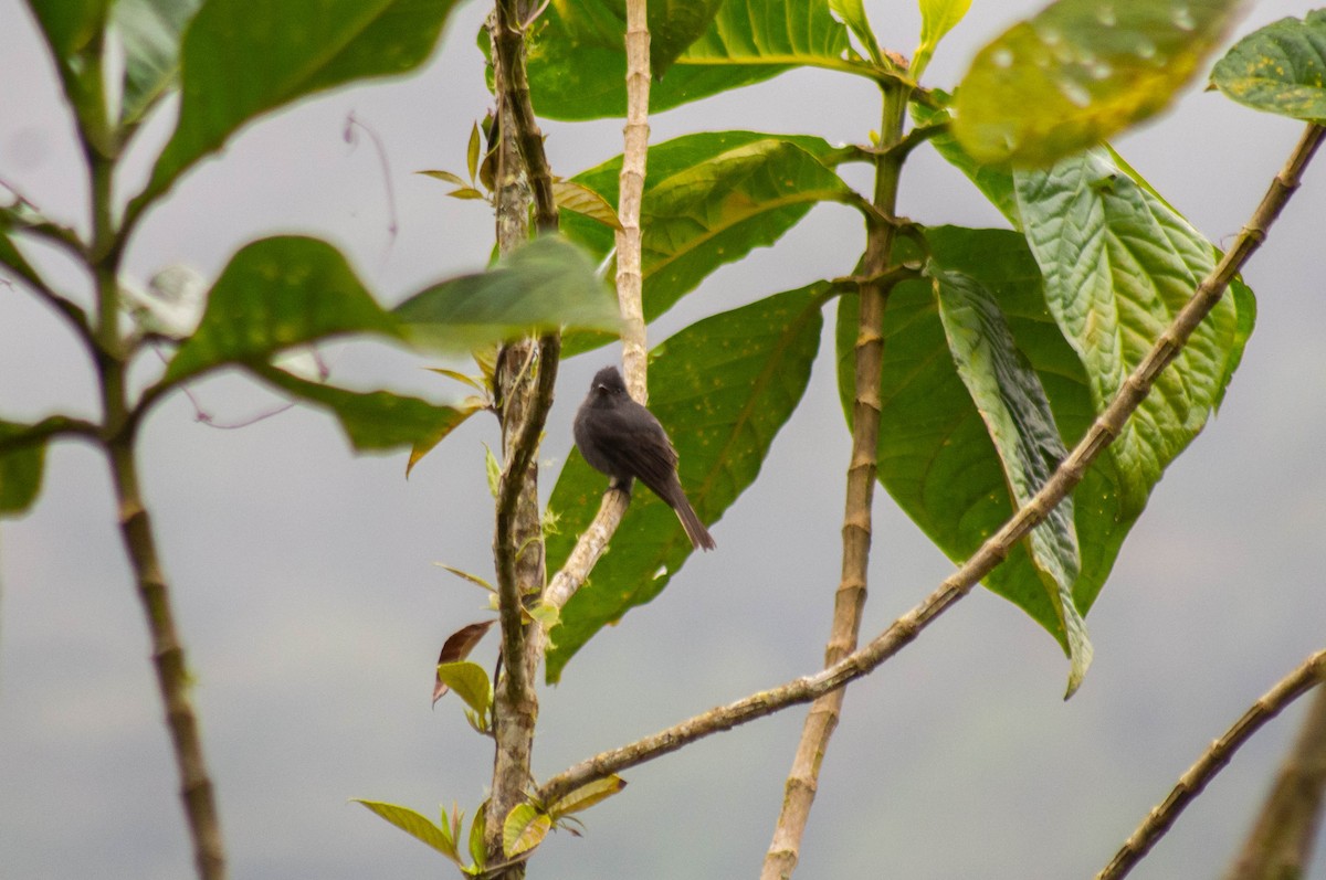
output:
[[[1225,97],[1294,119],[1326,119],[1326,9],[1254,30],[1211,72]]]

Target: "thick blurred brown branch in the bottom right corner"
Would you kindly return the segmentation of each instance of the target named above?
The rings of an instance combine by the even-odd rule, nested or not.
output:
[[[1302,877],[1311,863],[1313,840],[1322,822],[1326,795],[1326,688],[1317,692],[1307,718],[1257,824],[1225,880]]]

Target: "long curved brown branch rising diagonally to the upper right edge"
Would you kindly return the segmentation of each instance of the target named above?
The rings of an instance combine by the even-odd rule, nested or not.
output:
[[[582,761],[544,783],[538,790],[538,797],[545,802],[554,800],[582,785],[676,751],[688,742],[711,733],[729,730],[786,706],[809,702],[821,694],[835,690],[849,681],[869,675],[906,647],[939,615],[971,592],[985,575],[1008,557],[1013,545],[1034,526],[1044,522],[1049,512],[1077,488],[1086,468],[1119,435],[1123,423],[1151,392],[1151,386],[1160,372],[1174,360],[1201,319],[1220,302],[1221,293],[1231,278],[1261,247],[1268,231],[1298,188],[1302,171],[1311,160],[1317,147],[1321,146],[1323,133],[1326,129],[1318,125],[1307,126],[1289,162],[1272,180],[1270,188],[1261,204],[1257,205],[1248,225],[1238,233],[1233,247],[1211,270],[1211,274],[1197,285],[1188,303],[1175,315],[1170,327],[1160,335],[1147,357],[1128,375],[1115,399],[1073,448],[1069,457],[1041,486],[1041,490],[920,604],[898,618],[865,648],[853,652],[822,672],[794,679],[781,687],[761,690],[725,706],[717,706],[643,740]]]

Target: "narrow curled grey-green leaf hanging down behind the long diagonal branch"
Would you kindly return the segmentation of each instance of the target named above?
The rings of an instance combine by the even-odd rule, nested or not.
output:
[[[1021,508],[1067,457],[1045,387],[1018,351],[998,302],[980,281],[934,262],[930,273],[957,375],[993,441],[1013,506]],[[1081,555],[1071,497],[1032,530],[1026,549],[1045,582],[1059,631],[1067,637],[1071,696],[1091,663],[1086,624],[1073,602]]]

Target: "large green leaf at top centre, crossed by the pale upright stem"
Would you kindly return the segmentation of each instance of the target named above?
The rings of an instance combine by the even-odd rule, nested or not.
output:
[[[708,15],[695,8],[686,27],[662,30],[660,57],[668,60],[693,38],[691,27]],[[650,7],[650,25],[658,13]],[[529,81],[534,109],[552,119],[626,115],[626,15],[622,0],[558,0],[532,29]],[[853,69],[843,60],[847,29],[827,0],[723,0],[699,40],[650,87],[650,110],[705,98],[774,77],[796,66]],[[660,72],[655,68],[655,76]]]

